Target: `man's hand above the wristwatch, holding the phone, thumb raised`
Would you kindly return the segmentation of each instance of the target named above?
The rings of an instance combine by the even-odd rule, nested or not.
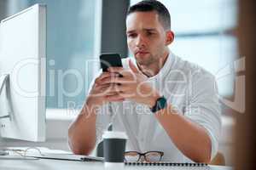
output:
[[[109,88],[113,92],[118,92],[118,96],[109,96],[108,100],[115,100],[116,97],[122,96],[124,99],[131,99],[137,103],[148,105],[150,108],[155,105],[155,101],[160,98],[156,89],[151,87],[146,77],[137,67],[129,60],[130,70],[122,67],[110,67],[108,71],[119,73],[122,77],[109,77],[102,80],[102,84],[113,83],[114,88]],[[111,93],[111,92],[110,92]]]

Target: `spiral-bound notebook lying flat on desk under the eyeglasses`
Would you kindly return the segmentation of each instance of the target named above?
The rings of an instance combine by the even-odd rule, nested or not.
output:
[[[125,162],[126,166],[207,167],[207,163]]]

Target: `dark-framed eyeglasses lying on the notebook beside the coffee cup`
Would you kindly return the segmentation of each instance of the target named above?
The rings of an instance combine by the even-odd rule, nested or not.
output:
[[[158,162],[161,161],[164,156],[162,151],[148,151],[145,153],[140,153],[137,151],[126,151],[125,152],[125,162],[137,162],[137,161],[149,161]]]

